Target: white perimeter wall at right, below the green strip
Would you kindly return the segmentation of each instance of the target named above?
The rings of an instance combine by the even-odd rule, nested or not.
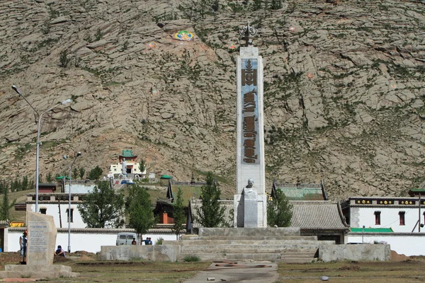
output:
[[[418,235],[419,233],[416,233]],[[368,236],[363,237],[364,243],[374,243],[374,241],[385,241],[400,255],[425,255],[425,234],[418,236]],[[362,243],[361,236],[351,236],[348,234],[348,243]]]

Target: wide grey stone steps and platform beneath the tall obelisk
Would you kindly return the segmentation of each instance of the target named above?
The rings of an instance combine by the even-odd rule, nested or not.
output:
[[[196,255],[203,261],[272,260],[287,263],[312,262],[319,245],[334,241],[317,241],[317,236],[300,236],[293,228],[200,229],[199,235],[184,235],[179,241],[181,259]]]

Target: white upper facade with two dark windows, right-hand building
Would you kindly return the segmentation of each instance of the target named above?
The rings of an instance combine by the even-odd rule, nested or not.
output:
[[[423,214],[425,209],[421,209]],[[375,225],[375,212],[380,212],[380,225]],[[399,212],[405,212],[404,224],[399,225]],[[366,228],[392,228],[392,231],[410,233],[419,219],[419,209],[416,207],[351,207],[350,226]],[[424,216],[421,216],[424,224]],[[417,231],[417,226],[415,231]],[[424,229],[425,232],[425,229]]]

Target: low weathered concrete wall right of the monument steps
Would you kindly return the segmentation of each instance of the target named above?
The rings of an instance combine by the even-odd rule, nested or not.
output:
[[[319,245],[319,259],[324,262],[334,260],[390,260],[390,245],[358,244],[358,245]]]

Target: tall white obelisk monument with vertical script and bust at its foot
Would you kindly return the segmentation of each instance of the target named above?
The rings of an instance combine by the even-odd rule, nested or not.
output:
[[[237,195],[235,227],[267,227],[264,167],[263,59],[252,45],[256,29],[239,29],[246,41],[237,57]]]

